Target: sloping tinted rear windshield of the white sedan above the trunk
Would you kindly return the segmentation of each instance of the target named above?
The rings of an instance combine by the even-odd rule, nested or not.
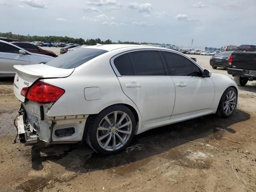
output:
[[[108,51],[102,49],[80,48],[58,56],[47,62],[46,65],[62,69],[72,69],[106,52]]]

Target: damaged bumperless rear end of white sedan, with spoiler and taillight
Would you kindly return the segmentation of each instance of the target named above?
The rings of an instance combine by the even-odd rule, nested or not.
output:
[[[78,118],[84,119],[85,124],[87,118],[85,116],[58,117],[47,115],[52,105],[65,94],[65,90],[46,83],[44,80],[66,78],[72,74],[74,69],[61,69],[44,64],[16,65],[14,68],[17,70],[14,78],[14,94],[22,102],[15,124],[21,143],[35,144],[39,140],[44,141],[46,145],[52,142],[58,143],[63,140],[63,136],[68,137],[76,132]],[[66,126],[67,122],[62,122],[68,118],[70,118],[70,126]],[[65,124],[65,127],[62,124]],[[74,136],[71,136],[70,142],[76,142]]]

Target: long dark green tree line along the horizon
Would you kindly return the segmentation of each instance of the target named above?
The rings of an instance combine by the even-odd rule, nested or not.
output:
[[[96,45],[97,43],[100,44],[148,44],[148,42],[132,42],[132,41],[120,41],[118,42],[112,42],[112,40],[101,40],[100,38],[97,39],[86,39],[84,40],[83,38],[72,38],[68,36],[30,36],[28,35],[20,35],[20,34],[12,34],[12,32],[7,32],[7,33],[2,33],[0,32],[0,37],[6,37],[6,38],[11,38],[11,39],[17,39],[20,41],[28,41],[28,42],[33,42],[33,41],[47,41],[47,42],[64,42],[64,43],[77,43],[77,44],[88,44],[88,45]],[[158,44],[158,43],[150,43],[150,44]],[[169,44],[166,44],[169,45]]]

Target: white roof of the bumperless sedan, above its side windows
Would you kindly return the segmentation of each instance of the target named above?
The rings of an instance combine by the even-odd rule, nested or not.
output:
[[[148,45],[134,45],[134,44],[104,44],[104,45],[98,44],[98,45],[93,45],[93,46],[81,47],[81,49],[94,48],[94,49],[103,49],[106,51],[112,51],[112,50],[128,48],[128,47],[170,50],[168,48],[163,48],[163,47],[155,47],[155,46],[148,46]],[[179,51],[177,51],[177,50],[172,50],[172,51],[179,53]]]

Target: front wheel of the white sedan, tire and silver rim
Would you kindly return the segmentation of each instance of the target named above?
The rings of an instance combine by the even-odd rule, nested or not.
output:
[[[216,114],[222,118],[228,118],[236,108],[237,92],[235,88],[229,87],[222,94]]]

